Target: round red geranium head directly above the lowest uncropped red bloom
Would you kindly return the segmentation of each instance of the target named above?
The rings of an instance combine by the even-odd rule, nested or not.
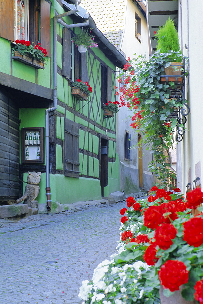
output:
[[[155,240],[159,248],[166,250],[173,244],[171,239],[176,236],[177,230],[172,224],[163,223],[155,230]]]

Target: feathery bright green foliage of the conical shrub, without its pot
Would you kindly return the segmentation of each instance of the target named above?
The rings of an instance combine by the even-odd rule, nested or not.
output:
[[[169,51],[180,51],[178,32],[175,29],[174,22],[169,17],[163,27],[160,27],[155,36],[158,38],[157,50],[160,53],[168,53]],[[171,62],[180,62],[181,58],[175,54],[170,55]]]

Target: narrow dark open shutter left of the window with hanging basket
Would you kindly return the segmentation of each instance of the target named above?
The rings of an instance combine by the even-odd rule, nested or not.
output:
[[[71,78],[71,32],[63,29],[62,75]]]

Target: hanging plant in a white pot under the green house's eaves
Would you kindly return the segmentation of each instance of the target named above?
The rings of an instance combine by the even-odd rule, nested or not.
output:
[[[98,47],[94,40],[95,36],[89,34],[88,29],[84,29],[73,37],[72,42],[77,45],[79,53],[85,53],[87,47]]]

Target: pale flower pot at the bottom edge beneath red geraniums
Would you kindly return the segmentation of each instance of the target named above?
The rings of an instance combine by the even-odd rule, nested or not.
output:
[[[161,304],[195,304],[195,300],[186,301],[182,297],[182,295],[181,295],[182,290],[183,290],[183,287],[180,286],[179,290],[175,291],[173,295],[171,295],[170,297],[167,298],[163,294],[163,287],[161,286],[159,289],[159,296],[160,296]]]

